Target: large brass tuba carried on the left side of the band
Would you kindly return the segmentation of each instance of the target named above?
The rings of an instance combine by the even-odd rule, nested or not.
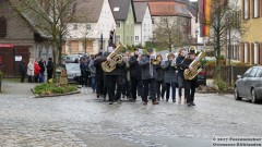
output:
[[[104,72],[111,72],[116,69],[118,63],[121,63],[123,60],[122,54],[120,53],[123,48],[127,49],[124,45],[119,41],[119,46],[108,56],[111,58],[111,61],[104,61],[102,63],[102,69]]]

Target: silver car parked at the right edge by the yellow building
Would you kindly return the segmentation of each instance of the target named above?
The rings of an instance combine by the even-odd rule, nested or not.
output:
[[[262,99],[262,66],[252,66],[235,84],[235,99],[250,99],[253,103]]]

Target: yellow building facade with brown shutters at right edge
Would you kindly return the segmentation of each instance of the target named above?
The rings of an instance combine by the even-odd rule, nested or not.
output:
[[[242,20],[248,30],[239,48],[239,60],[248,64],[262,64],[262,0],[241,0]]]

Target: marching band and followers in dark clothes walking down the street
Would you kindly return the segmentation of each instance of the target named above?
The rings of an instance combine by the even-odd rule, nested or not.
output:
[[[189,107],[195,106],[196,77],[190,81],[183,78],[186,69],[194,70],[190,66],[195,58],[194,48],[187,51],[180,49],[177,58],[174,53],[169,53],[166,60],[160,54],[155,57],[153,49],[142,53],[141,49],[136,48],[132,56],[123,53],[122,61],[116,64],[115,70],[105,72],[102,63],[114,61],[109,54],[110,52],[104,52],[92,56],[91,59],[80,60],[82,85],[87,86],[87,83],[91,83],[97,98],[106,101],[108,97],[109,105],[121,103],[121,98],[135,102],[138,97],[142,98],[143,105],[147,105],[150,100],[152,105],[158,105],[160,100],[169,101],[169,99],[176,102],[178,87],[177,102],[181,103],[181,99],[184,98]],[[184,87],[183,96],[182,87]]]

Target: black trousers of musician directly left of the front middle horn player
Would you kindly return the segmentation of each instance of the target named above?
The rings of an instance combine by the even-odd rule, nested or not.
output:
[[[138,93],[136,93],[138,91]],[[131,97],[136,99],[136,94],[143,96],[143,81],[131,77]]]

